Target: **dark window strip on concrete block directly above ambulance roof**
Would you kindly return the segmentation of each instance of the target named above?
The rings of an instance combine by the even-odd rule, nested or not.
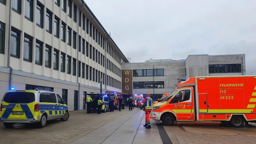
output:
[[[210,64],[209,73],[242,72],[241,64]]]

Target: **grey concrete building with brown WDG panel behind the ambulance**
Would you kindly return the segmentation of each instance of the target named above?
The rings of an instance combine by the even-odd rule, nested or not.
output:
[[[122,92],[144,96],[150,92],[152,98],[157,100],[176,88],[178,78],[246,75],[245,68],[245,54],[189,55],[186,60],[150,59],[145,62],[123,63]]]

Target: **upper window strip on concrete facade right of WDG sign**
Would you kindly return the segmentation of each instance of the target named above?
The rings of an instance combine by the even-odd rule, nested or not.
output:
[[[164,69],[133,70],[133,76],[164,76]]]

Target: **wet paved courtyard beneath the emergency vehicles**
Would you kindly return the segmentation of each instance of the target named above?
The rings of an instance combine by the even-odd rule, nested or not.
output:
[[[143,110],[125,108],[102,114],[74,111],[68,121],[50,121],[45,128],[0,124],[0,144],[163,144],[161,136],[173,144],[256,144],[255,125],[231,128],[219,122],[179,122],[163,126],[163,133],[154,120],[150,130],[143,127]]]

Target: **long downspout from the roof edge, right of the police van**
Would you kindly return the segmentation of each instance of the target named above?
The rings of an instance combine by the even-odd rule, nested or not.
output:
[[[82,6],[84,6],[84,4],[85,4],[85,2],[83,3]],[[80,20],[79,11],[82,6],[80,6],[78,8],[78,21],[77,21],[77,75],[76,75],[76,78],[77,78],[77,83],[78,83],[78,110],[80,110],[80,83],[79,83],[79,67],[78,67],[78,63],[79,63],[79,58],[78,58],[78,54],[79,54],[79,22],[80,22],[79,21]],[[82,14],[81,14],[81,16],[82,16]]]

